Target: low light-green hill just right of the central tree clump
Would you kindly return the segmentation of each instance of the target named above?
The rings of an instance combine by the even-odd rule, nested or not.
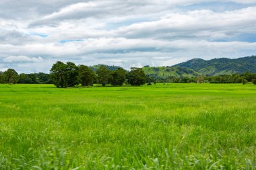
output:
[[[191,69],[184,67],[143,67],[143,71],[150,77],[166,79],[168,77],[197,77],[201,73],[197,73]]]

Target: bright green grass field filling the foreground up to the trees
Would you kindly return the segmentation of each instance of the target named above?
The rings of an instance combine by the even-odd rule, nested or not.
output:
[[[0,85],[0,169],[255,169],[256,85]]]

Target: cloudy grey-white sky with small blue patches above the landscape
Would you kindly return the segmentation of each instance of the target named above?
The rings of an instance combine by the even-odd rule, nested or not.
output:
[[[256,54],[256,0],[1,0],[0,71]]]

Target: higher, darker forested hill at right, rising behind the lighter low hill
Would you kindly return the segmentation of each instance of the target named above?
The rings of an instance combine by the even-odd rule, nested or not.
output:
[[[212,60],[195,58],[172,67],[185,67],[207,76],[231,75],[234,73],[245,73],[245,71],[256,73],[256,56],[236,59],[215,58]]]

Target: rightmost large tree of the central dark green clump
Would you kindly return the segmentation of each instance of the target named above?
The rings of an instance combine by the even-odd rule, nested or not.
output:
[[[146,83],[146,75],[141,68],[132,67],[127,74],[127,81],[130,85],[143,85]]]

